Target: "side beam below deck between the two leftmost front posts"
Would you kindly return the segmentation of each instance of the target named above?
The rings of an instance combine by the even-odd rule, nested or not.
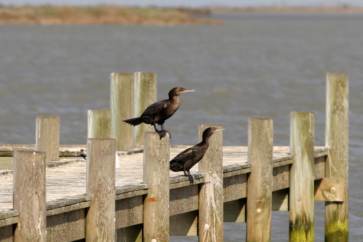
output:
[[[47,242],[69,242],[86,236],[85,209],[59,213],[46,218]]]

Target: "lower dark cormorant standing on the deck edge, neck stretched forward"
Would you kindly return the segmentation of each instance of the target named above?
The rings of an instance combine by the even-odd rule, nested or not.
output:
[[[186,149],[170,161],[170,170],[174,172],[183,171],[184,175],[189,177],[192,185],[194,179],[189,170],[203,158],[209,147],[209,138],[212,134],[221,130],[224,128],[206,128],[203,131],[203,140],[199,144]]]

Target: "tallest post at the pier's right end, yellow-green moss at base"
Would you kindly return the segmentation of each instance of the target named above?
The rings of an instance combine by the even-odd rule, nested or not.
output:
[[[327,73],[325,177],[344,183],[343,202],[325,202],[325,241],[348,241],[348,89],[347,74]]]

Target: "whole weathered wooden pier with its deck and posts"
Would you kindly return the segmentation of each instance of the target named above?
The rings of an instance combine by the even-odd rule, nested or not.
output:
[[[37,117],[36,145],[0,145],[0,160],[13,158],[0,171],[0,242],[222,242],[223,222],[246,222],[246,241],[264,242],[272,210],[289,211],[290,241],[314,241],[314,200],[326,201],[325,240],[348,241],[346,74],[327,74],[325,147],[314,146],[314,113],[291,112],[290,147],[273,146],[272,119],[250,118],[248,147],[223,146],[222,132],[211,137],[191,169],[194,185],[169,171],[190,146],[121,123],[155,102],[155,93],[138,98],[145,85],[156,93],[156,74],[111,75],[114,102],[88,111],[87,145],[59,145],[57,116]],[[123,113],[125,102],[135,108]],[[199,140],[211,126],[221,127],[195,127]]]

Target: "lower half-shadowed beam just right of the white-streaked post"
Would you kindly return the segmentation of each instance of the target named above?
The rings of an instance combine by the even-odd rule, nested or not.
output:
[[[246,198],[225,202],[223,204],[224,222],[246,222]]]

